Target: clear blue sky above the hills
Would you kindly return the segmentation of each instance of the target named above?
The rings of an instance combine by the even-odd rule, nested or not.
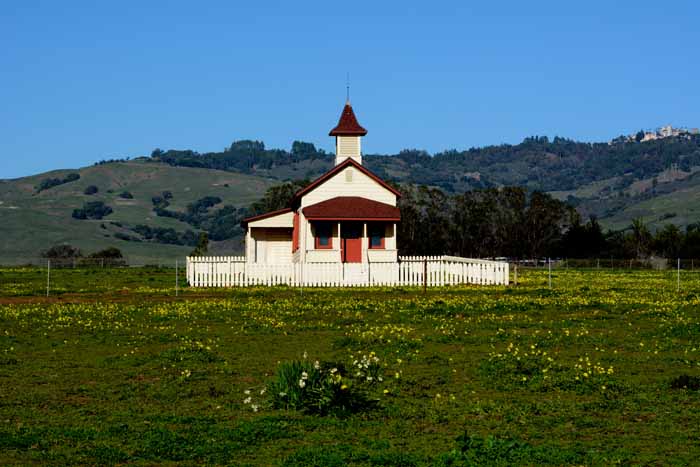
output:
[[[574,4],[575,3],[575,4]],[[366,153],[700,126],[698,2],[0,6],[0,178],[236,139]]]

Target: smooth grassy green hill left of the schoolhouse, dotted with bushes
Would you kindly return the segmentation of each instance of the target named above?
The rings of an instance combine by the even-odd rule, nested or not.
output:
[[[37,192],[47,178],[63,179],[77,173],[80,179]],[[138,238],[131,226],[172,228],[177,232],[196,230],[179,220],[156,216],[151,198],[164,191],[172,193],[168,209],[184,210],[204,196],[221,198],[218,206],[248,206],[274,184],[269,179],[219,170],[172,167],[150,161],[100,164],[79,170],[56,170],[31,177],[0,181],[0,264],[35,259],[42,250],[59,243],[78,246],[91,253],[116,246],[132,264],[173,261],[192,250],[191,246],[147,241],[125,241],[118,236]],[[98,192],[84,194],[94,185]],[[128,192],[133,196],[124,199]],[[102,201],[113,212],[101,220],[77,220],[71,214],[85,202]],[[115,236],[117,235],[117,236]],[[212,244],[212,249],[240,252],[239,239]]]

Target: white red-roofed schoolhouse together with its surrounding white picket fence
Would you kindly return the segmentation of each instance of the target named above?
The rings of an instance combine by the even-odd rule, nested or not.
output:
[[[329,133],[335,166],[297,192],[290,207],[244,219],[245,256],[188,258],[190,285],[507,284],[507,263],[399,257],[401,194],[362,165],[366,134],[346,102]]]

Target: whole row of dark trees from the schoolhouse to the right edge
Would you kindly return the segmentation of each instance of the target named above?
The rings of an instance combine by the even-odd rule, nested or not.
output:
[[[435,188],[401,187],[399,249],[409,255],[450,254],[511,259],[700,258],[700,223],[668,224],[652,232],[642,219],[603,231],[583,222],[569,204],[522,187],[448,195]]]

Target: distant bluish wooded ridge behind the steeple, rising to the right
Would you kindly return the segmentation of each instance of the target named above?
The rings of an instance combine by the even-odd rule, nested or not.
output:
[[[295,141],[290,151],[266,149],[260,141],[237,141],[222,152],[154,151],[151,158],[173,166],[232,170],[277,180],[314,178],[328,170],[333,156],[313,144]],[[652,228],[700,221],[693,206],[700,180],[700,135],[637,142],[583,143],[566,138],[530,137],[502,144],[428,154],[367,154],[363,163],[386,180],[419,184],[446,193],[524,186],[553,194],[595,215],[612,229],[643,217]],[[678,193],[675,193],[678,191]]]

